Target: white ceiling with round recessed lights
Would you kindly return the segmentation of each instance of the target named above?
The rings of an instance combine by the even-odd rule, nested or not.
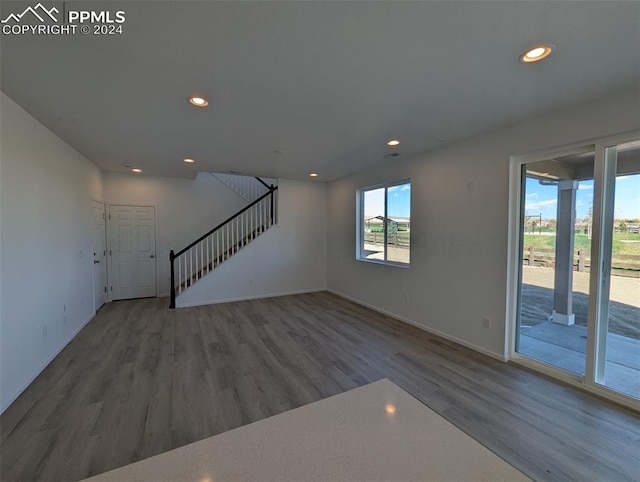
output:
[[[65,7],[124,10],[124,33],[2,35],[1,89],[107,171],[326,181],[397,162],[392,137],[402,159],[640,85],[638,1]],[[518,62],[540,42],[554,55]]]

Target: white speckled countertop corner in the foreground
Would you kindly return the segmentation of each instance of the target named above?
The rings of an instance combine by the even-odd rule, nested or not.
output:
[[[86,480],[529,479],[385,379]]]

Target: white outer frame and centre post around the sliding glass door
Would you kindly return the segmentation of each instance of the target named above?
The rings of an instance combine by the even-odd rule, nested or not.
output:
[[[509,218],[508,218],[508,244],[507,244],[507,292],[505,313],[505,337],[504,353],[508,361],[526,366],[541,372],[552,378],[561,380],[569,385],[594,393],[621,405],[640,410],[640,401],[616,392],[608,387],[595,382],[595,360],[597,357],[597,321],[596,313],[601,305],[602,295],[602,209],[604,206],[603,182],[605,180],[604,150],[606,147],[624,144],[640,139],[640,130],[625,132],[607,137],[574,142],[556,148],[548,148],[529,154],[512,155],[509,160]],[[593,218],[598,222],[593,223],[591,245],[591,277],[589,280],[589,314],[587,320],[587,353],[585,375],[580,376],[533,358],[516,352],[517,319],[518,319],[518,291],[520,281],[521,233],[520,212],[522,201],[522,165],[530,162],[542,161],[550,157],[562,157],[570,154],[578,154],[586,151],[595,151],[594,154],[594,193],[593,193]]]

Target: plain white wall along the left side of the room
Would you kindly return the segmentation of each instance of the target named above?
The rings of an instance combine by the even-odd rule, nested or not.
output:
[[[4,411],[95,314],[91,198],[102,199],[102,179],[4,93],[0,103]]]

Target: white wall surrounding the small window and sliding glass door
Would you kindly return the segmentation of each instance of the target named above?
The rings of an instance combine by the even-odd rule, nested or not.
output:
[[[331,183],[328,288],[504,357],[510,156],[638,129],[639,100],[626,92]],[[356,261],[356,190],[406,178],[411,267]]]

